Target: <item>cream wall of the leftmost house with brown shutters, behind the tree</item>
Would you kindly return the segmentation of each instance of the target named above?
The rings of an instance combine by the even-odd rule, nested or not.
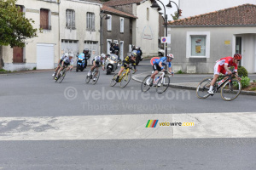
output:
[[[55,44],[55,48],[58,48],[58,4],[49,3],[46,1],[35,0],[18,0],[17,5],[24,6],[25,16],[28,19],[35,21],[32,26],[39,29],[40,25],[40,8],[46,8],[50,11],[50,23],[51,30],[43,30],[42,33],[38,31],[38,37],[26,40],[26,47],[24,48],[23,59],[26,59],[26,63],[13,64],[13,48],[9,46],[3,47],[3,60],[5,66],[3,69],[9,71],[18,71],[32,69],[37,66],[37,43],[50,43]],[[59,56],[57,50],[55,50],[55,58]]]

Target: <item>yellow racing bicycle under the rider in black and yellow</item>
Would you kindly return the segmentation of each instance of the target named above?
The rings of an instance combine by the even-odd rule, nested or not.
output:
[[[132,74],[135,73],[135,70],[132,69],[131,67],[125,68],[125,71],[122,72],[122,74],[119,77],[119,82],[120,82],[120,88],[125,88],[127,84],[131,80],[131,70],[134,71]],[[118,77],[118,73],[113,75],[113,78],[111,79],[110,86],[113,87],[117,82],[115,81],[116,78]]]

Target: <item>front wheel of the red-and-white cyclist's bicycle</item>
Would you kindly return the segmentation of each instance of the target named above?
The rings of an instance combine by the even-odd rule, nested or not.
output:
[[[221,97],[225,101],[231,101],[241,93],[241,82],[237,79],[232,79],[231,82],[225,82],[221,88]]]

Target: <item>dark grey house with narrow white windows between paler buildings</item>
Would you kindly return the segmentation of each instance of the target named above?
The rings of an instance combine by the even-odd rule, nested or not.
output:
[[[108,16],[108,20],[105,20]],[[111,43],[119,44],[119,58],[124,59],[132,44],[132,21],[137,17],[115,8],[102,6],[102,53],[109,54]]]

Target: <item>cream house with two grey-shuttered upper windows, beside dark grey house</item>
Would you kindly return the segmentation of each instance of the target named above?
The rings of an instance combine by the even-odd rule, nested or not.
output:
[[[99,0],[61,0],[60,54],[72,53],[76,56],[88,48],[91,54],[89,63],[100,54],[101,8]],[[58,59],[55,59],[55,64]]]

